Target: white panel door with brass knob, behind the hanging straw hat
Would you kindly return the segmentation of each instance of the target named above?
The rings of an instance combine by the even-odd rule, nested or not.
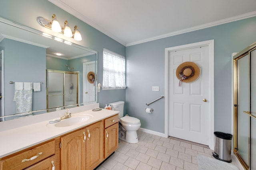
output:
[[[208,51],[204,46],[169,52],[169,136],[204,145],[209,144]],[[201,74],[198,80],[179,86],[176,68],[186,61],[198,64]]]

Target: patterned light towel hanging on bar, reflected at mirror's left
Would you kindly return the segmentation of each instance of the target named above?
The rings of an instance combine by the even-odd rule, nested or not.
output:
[[[32,83],[22,83],[22,89],[20,88],[22,82],[15,82],[14,99],[16,102],[16,113],[24,113],[32,111]],[[18,89],[18,90],[17,90]],[[20,90],[21,89],[21,90]]]

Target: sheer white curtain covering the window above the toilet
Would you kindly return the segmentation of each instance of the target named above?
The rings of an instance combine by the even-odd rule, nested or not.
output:
[[[107,49],[103,49],[102,90],[125,88],[125,58]]]

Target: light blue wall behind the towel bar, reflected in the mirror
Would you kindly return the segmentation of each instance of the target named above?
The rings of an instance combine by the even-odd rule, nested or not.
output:
[[[13,102],[14,84],[9,82],[45,82],[46,49],[11,39],[4,39],[4,42],[4,114],[10,115],[16,113],[16,103]],[[32,111],[46,108],[43,87],[44,84],[40,92],[33,92]]]

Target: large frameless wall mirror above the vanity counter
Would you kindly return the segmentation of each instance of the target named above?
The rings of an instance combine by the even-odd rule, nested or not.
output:
[[[0,121],[96,103],[97,51],[0,18],[0,80]]]

